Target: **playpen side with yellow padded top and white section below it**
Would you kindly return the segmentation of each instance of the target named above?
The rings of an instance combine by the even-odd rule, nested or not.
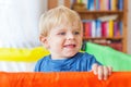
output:
[[[0,71],[4,72],[33,72],[38,59],[49,52],[43,47],[0,48]]]

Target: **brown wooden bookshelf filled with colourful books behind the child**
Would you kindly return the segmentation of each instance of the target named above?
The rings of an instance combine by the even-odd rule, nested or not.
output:
[[[57,3],[51,3],[51,0],[48,0],[48,1],[49,1],[48,4],[51,4],[53,7],[55,7],[55,4],[58,5]],[[57,0],[57,1],[59,1],[59,0]],[[112,27],[111,35],[109,35],[109,32],[108,32],[108,35],[106,35],[104,33],[98,33],[98,34],[100,34],[100,35],[98,35],[96,32],[95,32],[94,36],[92,36],[93,33],[91,33],[91,32],[90,32],[91,33],[90,35],[84,34],[84,38],[83,38],[84,41],[92,41],[95,44],[109,46],[116,50],[127,52],[128,0],[122,0],[121,3],[119,3],[119,1],[121,1],[121,0],[100,0],[104,2],[115,1],[115,2],[110,2],[110,4],[108,4],[109,5],[108,8],[105,8],[105,7],[107,7],[107,4],[105,5],[105,3],[103,3],[103,7],[100,7],[102,2],[100,2],[100,5],[96,5],[96,3],[93,2],[93,1],[98,1],[98,0],[74,0],[74,1],[79,1],[79,2],[73,2],[73,0],[63,0],[63,3],[64,3],[64,5],[75,10],[80,14],[82,22],[83,22],[83,26],[84,26],[84,33],[85,33],[85,27],[86,27],[85,24],[91,23],[93,25],[94,22],[99,21],[99,17],[100,17],[100,32],[102,32],[102,28],[105,27],[105,24],[106,24],[107,29]],[[91,5],[88,8],[88,5],[87,5],[88,3],[85,3],[84,1],[92,1],[92,4],[93,4],[92,8],[91,8]],[[111,4],[114,4],[114,5],[111,5]],[[118,8],[119,4],[122,4],[122,9]],[[99,7],[99,8],[96,9],[96,7]],[[51,8],[48,7],[48,9],[51,9]],[[109,21],[102,20],[102,17],[104,18],[104,16],[107,16],[110,18],[110,17],[115,17],[116,15],[117,15],[117,17],[111,21],[110,20]],[[109,22],[111,24],[111,27],[109,26]],[[104,27],[102,27],[102,26],[104,26]],[[116,30],[115,26],[120,30]],[[96,23],[95,23],[95,28],[96,28]],[[85,35],[87,35],[87,36],[85,36]]]

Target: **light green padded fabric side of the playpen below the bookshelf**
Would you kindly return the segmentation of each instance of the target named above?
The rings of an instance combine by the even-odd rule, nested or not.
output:
[[[114,71],[131,71],[131,55],[114,50],[107,46],[86,44],[86,52],[94,54],[104,65],[110,65]]]

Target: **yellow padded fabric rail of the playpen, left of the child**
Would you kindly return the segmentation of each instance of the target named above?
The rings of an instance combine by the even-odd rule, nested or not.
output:
[[[43,47],[33,49],[0,48],[0,61],[36,62],[47,54],[49,51]]]

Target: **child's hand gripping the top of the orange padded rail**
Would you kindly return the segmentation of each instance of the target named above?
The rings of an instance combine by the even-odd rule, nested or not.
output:
[[[108,76],[111,74],[112,69],[110,66],[103,66],[98,64],[93,64],[92,71],[95,75],[98,76],[98,79],[107,79]]]

